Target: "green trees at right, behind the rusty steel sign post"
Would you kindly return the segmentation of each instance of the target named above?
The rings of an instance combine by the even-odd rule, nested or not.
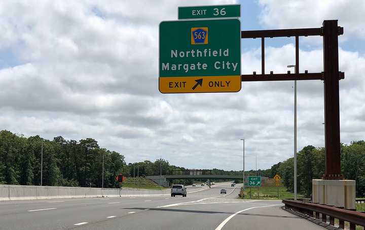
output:
[[[266,175],[279,174],[288,191],[294,191],[294,157],[278,162]],[[312,194],[312,179],[324,174],[324,148],[308,145],[297,154],[297,190],[305,196]],[[341,144],[341,174],[345,179],[356,181],[356,196],[365,197],[365,141]]]

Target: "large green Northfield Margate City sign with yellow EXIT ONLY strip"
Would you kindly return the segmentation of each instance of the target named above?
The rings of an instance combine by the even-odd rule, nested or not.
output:
[[[240,29],[238,19],[161,22],[160,92],[238,92]]]

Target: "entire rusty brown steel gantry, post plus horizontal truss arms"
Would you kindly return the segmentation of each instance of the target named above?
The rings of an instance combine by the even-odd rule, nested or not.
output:
[[[338,36],[343,34],[343,27],[337,20],[324,20],[320,28],[271,29],[241,31],[241,38],[261,38],[261,74],[241,75],[242,81],[294,81],[322,80],[324,82],[324,129],[325,129],[325,171],[323,179],[339,180],[341,175],[340,153],[340,97],[339,80],[344,79],[339,72]],[[299,37],[323,37],[323,72],[299,73]],[[286,74],[265,74],[265,38],[295,37],[296,40],[296,71]]]

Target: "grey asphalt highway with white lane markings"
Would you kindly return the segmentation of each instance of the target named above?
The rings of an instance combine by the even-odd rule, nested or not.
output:
[[[324,229],[282,210],[281,201],[238,200],[239,187],[188,187],[195,192],[186,198],[0,202],[0,229]],[[227,188],[227,195],[220,194],[221,188]]]

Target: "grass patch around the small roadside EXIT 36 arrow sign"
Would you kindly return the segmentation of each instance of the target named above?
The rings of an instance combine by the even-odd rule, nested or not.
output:
[[[279,188],[279,196],[278,196]],[[250,196],[251,195],[251,196]],[[259,195],[259,196],[258,196]],[[286,191],[286,187],[283,186],[263,186],[263,187],[246,187],[245,199],[254,200],[282,200],[294,198],[294,193]],[[303,195],[298,194],[298,198],[304,198]]]

